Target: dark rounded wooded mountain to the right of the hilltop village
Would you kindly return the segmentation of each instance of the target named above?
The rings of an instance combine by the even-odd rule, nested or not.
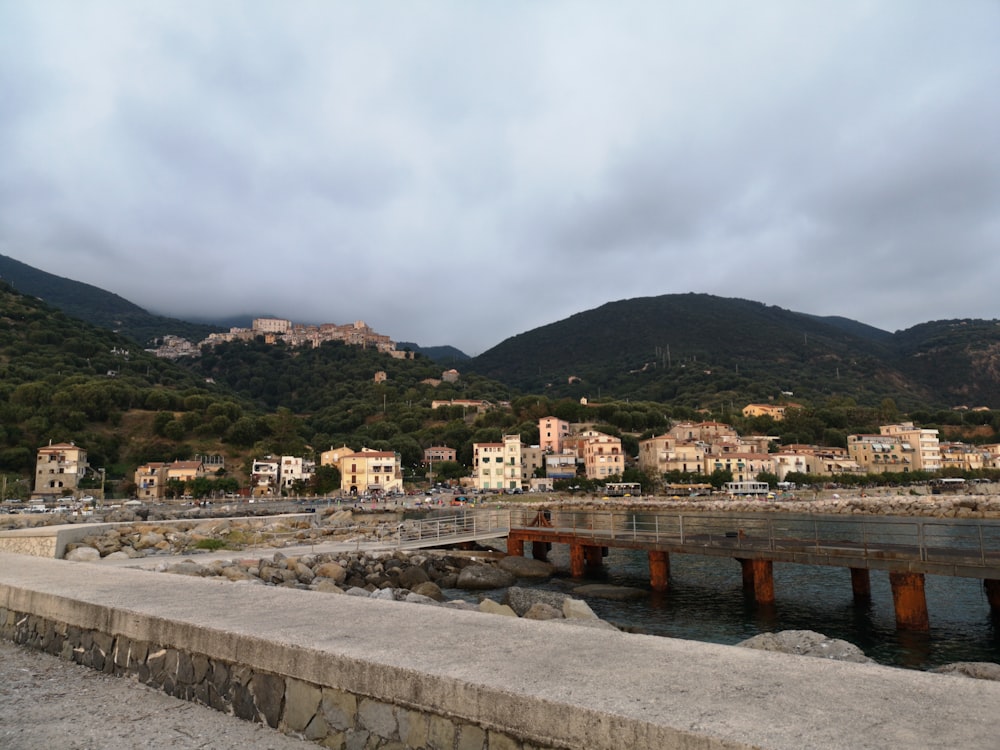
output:
[[[1000,327],[987,321],[893,334],[750,300],[674,294],[610,302],[522,333],[464,370],[551,397],[944,408],[1000,403],[998,350]]]

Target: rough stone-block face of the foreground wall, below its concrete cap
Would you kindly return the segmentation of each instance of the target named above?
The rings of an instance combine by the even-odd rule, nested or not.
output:
[[[0,638],[327,748],[542,750],[496,729],[0,607]]]

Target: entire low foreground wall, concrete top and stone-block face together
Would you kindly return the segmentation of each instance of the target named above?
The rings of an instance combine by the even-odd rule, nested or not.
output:
[[[7,554],[0,636],[329,747],[992,750],[1000,705],[956,676]]]

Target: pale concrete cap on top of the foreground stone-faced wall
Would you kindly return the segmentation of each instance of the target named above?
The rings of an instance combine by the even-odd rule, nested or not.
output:
[[[56,619],[113,607],[130,637],[146,621],[162,637],[195,628],[203,652],[314,682],[405,683],[408,700],[543,726],[569,746],[997,747],[1000,684],[950,675],[0,555],[0,608],[28,602]]]

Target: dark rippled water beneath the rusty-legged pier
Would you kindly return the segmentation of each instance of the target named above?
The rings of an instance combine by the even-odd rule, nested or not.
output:
[[[875,661],[930,669],[957,661],[1000,663],[1000,621],[990,615],[982,582],[926,576],[929,633],[896,630],[888,573],[871,572],[871,601],[856,603],[847,568],[774,564],[776,602],[761,607],[743,590],[740,564],[728,558],[673,554],[670,587],[649,588],[645,552],[611,548],[596,577],[571,579],[569,548],[555,545],[549,561],[556,577],[539,588],[570,592],[584,583],[611,583],[647,592],[643,599],[615,602],[587,598],[601,619],[650,635],[735,644],[780,630],[814,630],[861,648]],[[490,598],[502,592],[488,592]]]

